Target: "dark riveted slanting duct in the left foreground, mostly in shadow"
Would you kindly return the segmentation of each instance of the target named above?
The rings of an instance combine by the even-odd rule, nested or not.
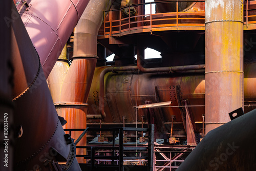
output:
[[[12,17],[19,16],[14,4],[12,12]],[[55,162],[60,162],[60,156],[67,161],[59,166],[61,170],[80,170],[74,143],[66,143],[39,57],[20,17],[14,21],[14,170],[50,170],[59,166]]]

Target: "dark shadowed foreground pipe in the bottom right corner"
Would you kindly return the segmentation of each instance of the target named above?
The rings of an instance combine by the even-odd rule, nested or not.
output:
[[[253,110],[210,131],[177,171],[256,170],[255,120]]]

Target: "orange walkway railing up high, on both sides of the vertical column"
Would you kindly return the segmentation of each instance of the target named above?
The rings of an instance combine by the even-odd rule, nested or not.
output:
[[[164,13],[156,13],[152,14],[152,5],[153,4],[159,4],[159,3],[175,3],[176,2],[176,11],[175,12],[164,12]],[[168,28],[172,28],[172,30],[178,30],[178,29],[191,29],[191,30],[204,30],[204,14],[203,12],[179,12],[178,9],[178,2],[198,2],[198,3],[204,3],[205,1],[196,1],[196,0],[168,0],[168,1],[158,1],[158,2],[148,2],[148,3],[142,3],[142,4],[134,4],[126,7],[122,7],[119,9],[112,9],[112,10],[106,10],[108,11],[119,11],[119,19],[112,20],[112,17],[109,19],[104,19],[104,28],[103,32],[100,32],[99,36],[108,37],[110,36],[122,36],[130,33],[137,33],[140,32],[138,29],[143,29],[143,32],[150,32],[158,30],[161,28],[162,30]],[[245,8],[244,8],[244,26],[245,29],[255,29],[255,27],[249,27],[250,24],[256,24],[256,20],[254,20],[252,17],[253,15],[250,15],[249,11],[256,10],[256,9],[249,9],[250,8],[250,1],[244,2]],[[135,15],[131,16],[129,12],[129,16],[126,18],[121,18],[121,10],[129,8],[129,11],[132,7],[140,7],[140,6],[150,6],[150,12],[143,15]],[[248,7],[249,6],[249,7]],[[194,14],[193,14],[194,13]],[[113,14],[113,13],[112,13]],[[162,15],[162,16],[160,16]],[[182,16],[181,16],[182,15]],[[183,16],[188,17],[183,17]],[[190,16],[189,16],[190,15]],[[143,17],[142,20],[136,20],[136,18]],[[145,17],[148,17],[145,19]],[[155,18],[157,17],[157,18]],[[161,18],[162,17],[162,18]],[[176,22],[175,22],[176,20]],[[173,21],[173,22],[171,22]],[[183,22],[185,21],[185,22]],[[159,24],[161,22],[161,24]],[[137,24],[142,23],[142,25],[137,26]],[[146,23],[147,25],[144,25]],[[110,26],[111,24],[111,26]],[[108,25],[108,26],[106,26]],[[191,27],[192,26],[192,27]],[[147,29],[147,30],[144,30]],[[138,31],[136,31],[138,30]],[[159,31],[159,30],[158,30]],[[114,35],[113,35],[114,34]]]

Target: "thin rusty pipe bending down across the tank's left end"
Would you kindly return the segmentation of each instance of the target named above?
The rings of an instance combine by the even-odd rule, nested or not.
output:
[[[100,114],[98,115],[87,115],[87,119],[104,119],[106,114],[104,112],[104,76],[108,72],[117,72],[117,71],[136,71],[138,70],[137,66],[128,66],[128,67],[110,67],[104,69],[99,76],[99,110]]]

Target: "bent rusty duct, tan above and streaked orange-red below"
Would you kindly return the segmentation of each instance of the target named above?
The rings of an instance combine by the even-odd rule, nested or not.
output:
[[[63,81],[60,103],[56,106],[59,115],[68,121],[66,128],[86,128],[88,94],[98,58],[97,35],[103,20],[103,10],[109,10],[110,7],[109,0],[90,1],[76,26],[73,61]],[[77,139],[79,135],[78,132],[72,136]],[[79,144],[85,145],[86,138]]]

